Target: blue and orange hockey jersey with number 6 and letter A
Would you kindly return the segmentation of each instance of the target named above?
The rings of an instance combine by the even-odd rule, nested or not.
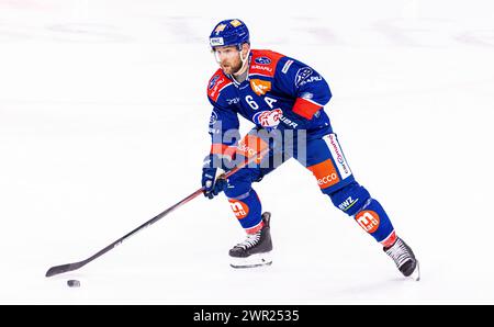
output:
[[[210,119],[212,153],[223,153],[238,140],[238,115],[261,128],[305,129],[307,138],[332,133],[324,112],[332,93],[317,71],[271,50],[252,49],[249,56],[245,81],[238,83],[218,69],[207,84],[207,98],[214,106]]]

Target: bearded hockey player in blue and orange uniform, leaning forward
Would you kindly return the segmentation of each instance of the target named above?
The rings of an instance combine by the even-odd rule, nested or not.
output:
[[[216,24],[210,45],[220,69],[207,83],[213,105],[209,131],[212,146],[202,169],[202,187],[209,199],[225,192],[247,234],[229,250],[232,267],[272,262],[271,214],[262,213],[251,184],[293,157],[314,174],[321,191],[336,207],[383,246],[405,277],[418,280],[414,252],[396,236],[384,208],[350,170],[324,111],[332,98],[325,79],[294,58],[251,49],[249,31],[238,19]],[[238,115],[256,125],[243,139]],[[256,157],[262,151],[268,153]],[[227,180],[221,178],[222,170],[252,157],[254,165]]]

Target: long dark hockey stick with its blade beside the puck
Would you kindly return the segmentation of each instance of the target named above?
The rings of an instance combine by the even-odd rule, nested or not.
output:
[[[223,173],[220,178],[228,178],[232,174],[236,173],[239,169],[246,167],[247,165],[249,165],[252,161],[260,161],[262,159],[262,157],[269,151],[269,149],[265,149],[263,151],[261,151],[259,155],[257,156],[251,156],[247,161],[240,162],[238,166],[236,166],[234,169],[229,170],[226,173]],[[176,204],[173,204],[172,206],[170,206],[169,208],[167,208],[166,211],[164,211],[162,213],[158,214],[156,217],[147,221],[146,223],[144,223],[143,225],[138,226],[137,228],[135,228],[134,230],[127,233],[126,235],[122,236],[121,238],[119,238],[117,240],[115,240],[114,243],[110,244],[109,246],[106,246],[105,248],[101,249],[99,252],[94,253],[93,256],[89,257],[86,260],[79,261],[79,262],[72,262],[72,263],[66,263],[66,264],[60,264],[60,266],[55,266],[48,269],[48,271],[46,272],[46,277],[52,277],[52,275],[56,275],[59,273],[64,273],[64,272],[68,272],[68,271],[74,271],[77,270],[86,264],[88,264],[89,262],[91,262],[92,260],[103,256],[104,253],[106,253],[108,251],[110,251],[111,249],[115,248],[116,246],[121,245],[124,240],[126,240],[127,238],[130,238],[131,236],[135,235],[137,232],[141,232],[142,229],[149,227],[150,225],[153,225],[154,223],[158,222],[159,219],[161,219],[162,217],[165,217],[166,215],[168,215],[169,213],[171,213],[172,211],[179,208],[180,206],[182,206],[183,204],[188,203],[189,201],[191,201],[192,199],[197,198],[198,195],[200,195],[203,192],[203,188],[197,190],[195,192],[193,192],[192,194],[190,194],[189,196],[184,198],[183,200],[181,200],[180,202],[177,202]]]

